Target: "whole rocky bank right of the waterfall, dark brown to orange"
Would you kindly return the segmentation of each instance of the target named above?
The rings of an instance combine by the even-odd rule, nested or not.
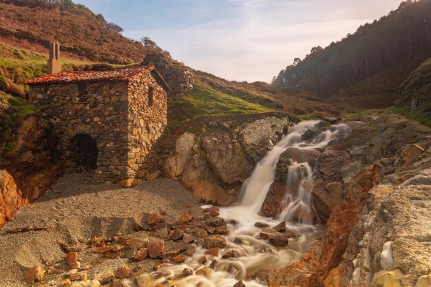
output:
[[[429,264],[425,266],[426,268],[421,264],[418,265],[418,269],[406,267],[407,262],[412,264],[422,259],[429,261],[429,258],[420,255],[429,252],[429,247],[423,244],[426,242],[423,238],[427,236],[428,239],[430,238],[427,235],[428,231],[416,232],[413,228],[412,232],[416,233],[414,235],[402,231],[410,224],[413,227],[420,226],[421,222],[430,220],[429,195],[425,192],[427,188],[423,185],[420,188],[419,185],[417,188],[401,187],[400,191],[397,191],[400,195],[392,201],[388,200],[385,205],[386,211],[383,209],[378,211],[379,207],[376,207],[378,202],[373,202],[373,198],[381,198],[406,180],[408,181],[403,186],[408,183],[429,182],[430,179],[424,172],[417,175],[418,171],[431,167],[431,142],[427,136],[429,133],[430,129],[426,127],[408,122],[402,117],[390,116],[377,120],[377,123],[357,125],[345,140],[340,140],[336,145],[328,147],[317,159],[320,175],[315,182],[313,196],[324,194],[317,193],[316,188],[337,193],[341,188],[339,184],[347,188],[345,191],[343,189],[341,201],[331,208],[329,207],[331,204],[328,204],[330,193],[326,195],[327,197],[322,196],[322,204],[326,204],[330,212],[322,241],[299,262],[282,270],[272,271],[269,275],[269,286],[314,287],[323,286],[325,282],[325,287],[381,287],[385,284],[385,280],[389,282],[392,279],[404,284],[401,286],[414,286],[419,276],[429,274]],[[418,142],[418,140],[422,141]],[[366,164],[365,168],[364,164]],[[320,183],[319,180],[321,180]],[[406,194],[401,196],[403,191],[406,191]],[[419,193],[414,195],[415,191]],[[401,203],[403,201],[405,204]],[[324,211],[319,209],[319,212],[322,210]],[[376,213],[381,212],[380,220],[387,225],[385,228],[377,225],[371,228],[372,222],[364,219],[364,216],[373,210]],[[411,215],[403,215],[410,211],[412,211]],[[394,215],[395,213],[397,215]],[[418,217],[413,219],[416,213]],[[361,221],[361,217],[364,222]],[[392,223],[391,220],[395,217],[399,222]],[[360,227],[361,224],[362,227]],[[376,228],[381,229],[381,233]],[[367,231],[370,233],[365,236]],[[370,243],[367,243],[371,237],[372,242],[375,242],[371,246],[374,247],[369,247]],[[415,239],[419,237],[420,240]],[[393,253],[394,246],[399,248],[397,264]],[[414,251],[420,252],[414,255]],[[382,252],[383,255],[381,255]],[[393,264],[390,253],[394,254]],[[365,257],[368,259],[364,259]],[[381,261],[381,258],[386,259]],[[382,265],[391,267],[385,269],[381,268]],[[428,277],[421,278],[425,281]],[[392,285],[387,283],[384,286]]]

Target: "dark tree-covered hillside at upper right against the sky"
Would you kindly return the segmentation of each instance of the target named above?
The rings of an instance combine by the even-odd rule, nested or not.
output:
[[[430,56],[431,0],[408,0],[337,43],[313,47],[305,59],[295,59],[282,70],[273,84],[310,90],[326,99],[388,68],[417,67]]]

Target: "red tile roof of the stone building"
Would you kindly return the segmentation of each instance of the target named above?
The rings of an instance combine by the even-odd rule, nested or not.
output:
[[[61,72],[33,78],[26,82],[28,85],[44,83],[73,83],[79,81],[129,81],[130,79],[149,73],[155,70],[154,67],[140,66],[114,71],[83,71],[83,72]]]

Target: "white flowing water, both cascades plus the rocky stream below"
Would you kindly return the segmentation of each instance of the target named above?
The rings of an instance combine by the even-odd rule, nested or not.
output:
[[[238,280],[247,287],[266,286],[267,271],[296,262],[319,240],[323,226],[313,225],[313,167],[308,163],[308,153],[326,147],[328,142],[346,136],[347,132],[346,125],[333,125],[319,131],[317,120],[303,121],[291,127],[244,182],[238,204],[220,209],[220,217],[228,222],[227,248],[213,256],[205,255],[207,249],[197,246],[193,257],[184,264],[160,269],[165,276],[152,281],[149,286],[169,281],[169,286],[177,284],[179,287],[232,287]],[[274,182],[277,162],[288,148],[295,149],[297,156],[288,168],[284,208],[277,218],[263,217],[259,215],[260,209]],[[256,227],[256,222],[275,226],[282,221],[286,222],[287,233],[295,234],[288,239],[286,247],[275,247],[261,239],[260,233],[265,228]],[[222,257],[231,250],[240,256]],[[207,256],[206,262],[202,262],[204,256]],[[193,275],[182,277],[184,268],[193,269]],[[205,272],[202,274],[199,270]]]

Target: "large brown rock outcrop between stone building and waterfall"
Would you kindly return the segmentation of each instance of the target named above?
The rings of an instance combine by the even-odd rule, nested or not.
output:
[[[287,130],[288,118],[210,121],[196,133],[182,134],[164,167],[202,202],[235,202],[255,164]],[[262,132],[263,131],[263,132]]]

